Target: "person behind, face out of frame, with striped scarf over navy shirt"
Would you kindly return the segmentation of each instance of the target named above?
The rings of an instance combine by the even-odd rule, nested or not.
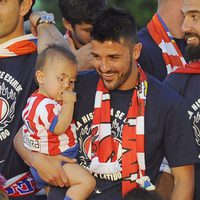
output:
[[[144,71],[160,81],[186,63],[182,3],[183,0],[158,0],[152,20],[138,32],[143,45],[138,62]]]

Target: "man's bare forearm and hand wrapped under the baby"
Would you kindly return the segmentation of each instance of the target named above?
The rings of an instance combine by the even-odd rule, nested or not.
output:
[[[28,150],[23,144],[22,128],[15,136],[14,146],[22,159],[29,166],[34,167],[44,181],[59,187],[69,185],[67,175],[63,170],[62,162],[75,163],[75,159],[61,155],[48,156]]]

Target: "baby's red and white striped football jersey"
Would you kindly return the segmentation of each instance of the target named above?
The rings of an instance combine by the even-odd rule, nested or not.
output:
[[[32,151],[57,155],[77,144],[76,127],[72,122],[61,135],[54,134],[61,105],[42,94],[33,93],[22,112],[24,146]]]

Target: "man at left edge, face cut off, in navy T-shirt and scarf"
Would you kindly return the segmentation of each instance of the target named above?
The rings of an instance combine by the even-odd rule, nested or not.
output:
[[[0,172],[7,179],[4,190],[10,199],[29,199],[35,193],[29,167],[13,146],[13,139],[22,126],[21,113],[26,100],[37,88],[34,82],[36,38],[24,32],[24,21],[34,3],[34,0],[0,3]]]

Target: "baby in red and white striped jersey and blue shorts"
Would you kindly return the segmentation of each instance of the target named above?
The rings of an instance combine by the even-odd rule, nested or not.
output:
[[[35,68],[39,89],[29,97],[22,113],[24,146],[50,156],[75,158],[78,144],[72,117],[76,57],[70,50],[54,45],[38,55]],[[70,183],[64,200],[86,199],[96,185],[93,176],[78,164],[64,163],[63,168]],[[34,168],[31,172],[38,188],[48,187]]]

